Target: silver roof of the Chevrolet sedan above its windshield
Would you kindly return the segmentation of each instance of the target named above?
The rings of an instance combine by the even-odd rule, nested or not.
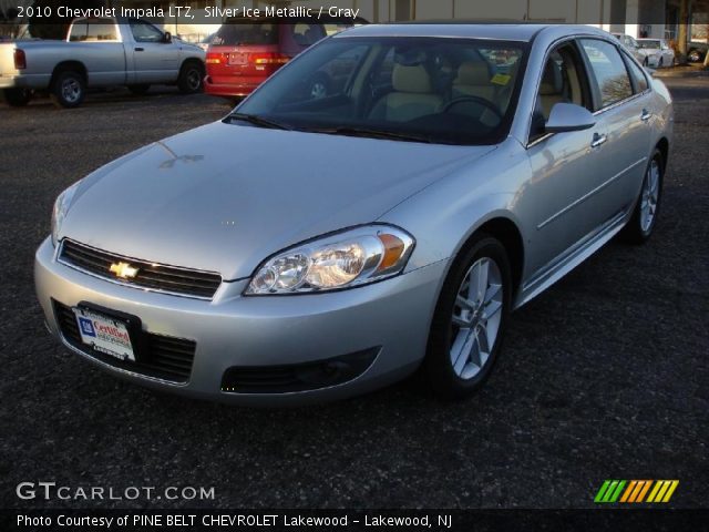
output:
[[[495,39],[501,41],[530,42],[545,30],[563,31],[565,34],[600,34],[607,32],[589,25],[538,24],[538,23],[490,23],[471,21],[407,22],[394,24],[368,24],[352,28],[333,35],[335,39],[350,37],[440,37],[462,39]]]

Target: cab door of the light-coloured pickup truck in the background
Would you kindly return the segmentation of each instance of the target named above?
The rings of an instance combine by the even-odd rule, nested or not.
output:
[[[126,54],[133,59],[132,83],[168,83],[179,73],[179,45],[165,42],[164,33],[153,24],[129,19],[131,35]],[[133,41],[133,42],[130,42]]]

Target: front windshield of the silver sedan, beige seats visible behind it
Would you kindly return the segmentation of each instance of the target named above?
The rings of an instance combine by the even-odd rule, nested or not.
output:
[[[510,130],[525,52],[506,41],[336,37],[266,82],[233,123],[494,144]]]

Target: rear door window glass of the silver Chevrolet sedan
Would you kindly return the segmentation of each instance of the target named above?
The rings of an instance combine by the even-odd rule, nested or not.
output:
[[[580,43],[595,78],[592,83],[598,89],[599,109],[630,98],[630,78],[616,47],[596,39],[582,39]]]

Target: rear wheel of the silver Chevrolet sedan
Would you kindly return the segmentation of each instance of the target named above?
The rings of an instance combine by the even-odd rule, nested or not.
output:
[[[653,234],[659,214],[664,177],[665,162],[662,153],[656,149],[645,171],[643,190],[640,191],[640,197],[636,202],[633,217],[623,229],[623,236],[626,242],[645,244]]]

